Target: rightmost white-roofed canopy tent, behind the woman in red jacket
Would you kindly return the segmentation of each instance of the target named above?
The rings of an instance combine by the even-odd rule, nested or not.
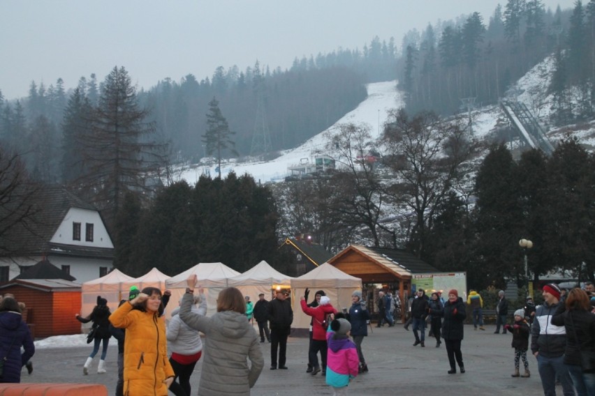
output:
[[[324,263],[314,268],[309,273],[291,280],[291,300],[293,306],[293,324],[292,329],[303,333],[303,329],[308,329],[310,319],[307,314],[302,312],[300,298],[304,295],[306,288],[310,289],[308,303],[314,299],[317,290],[323,290],[330,298],[330,303],[339,312],[341,308],[351,307],[351,294],[355,290],[362,289],[362,280],[344,273],[334,266]]]

